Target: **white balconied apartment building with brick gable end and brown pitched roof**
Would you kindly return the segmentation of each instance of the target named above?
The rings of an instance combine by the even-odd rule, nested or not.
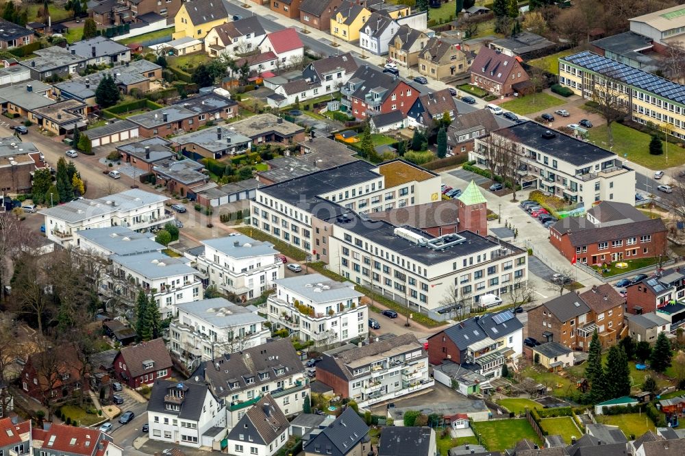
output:
[[[412,333],[386,334],[367,346],[347,344],[323,353],[316,379],[360,407],[431,388],[428,353]]]

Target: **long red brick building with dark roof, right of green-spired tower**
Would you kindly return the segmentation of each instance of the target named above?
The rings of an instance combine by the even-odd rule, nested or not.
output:
[[[562,218],[550,227],[549,235],[549,242],[569,262],[575,257],[583,264],[602,264],[666,253],[663,221],[626,203],[602,201],[585,218]]]

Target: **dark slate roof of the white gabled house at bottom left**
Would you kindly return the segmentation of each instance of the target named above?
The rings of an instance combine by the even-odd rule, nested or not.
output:
[[[164,403],[169,388],[183,390],[183,401],[179,411],[169,410]],[[155,411],[160,414],[175,415],[182,420],[199,420],[202,415],[202,406],[207,394],[212,394],[207,385],[190,381],[178,382],[170,380],[155,380],[152,385],[150,401],[147,403],[147,411]],[[223,411],[221,412],[223,413]]]

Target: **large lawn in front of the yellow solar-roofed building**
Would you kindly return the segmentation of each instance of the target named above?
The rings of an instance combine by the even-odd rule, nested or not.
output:
[[[663,144],[662,155],[650,155],[649,141],[651,136],[620,123],[613,123],[611,131],[614,134],[614,152],[625,157],[629,162],[635,162],[649,169],[660,170],[671,166],[685,164],[685,153],[680,147],[669,144],[669,160],[666,160],[666,144]],[[598,146],[609,149],[606,125],[598,125],[588,130],[588,140]]]

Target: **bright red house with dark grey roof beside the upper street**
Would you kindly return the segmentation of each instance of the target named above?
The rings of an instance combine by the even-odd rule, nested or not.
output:
[[[343,105],[358,120],[392,111],[406,117],[419,98],[419,91],[406,82],[369,65],[360,66],[340,93]]]

